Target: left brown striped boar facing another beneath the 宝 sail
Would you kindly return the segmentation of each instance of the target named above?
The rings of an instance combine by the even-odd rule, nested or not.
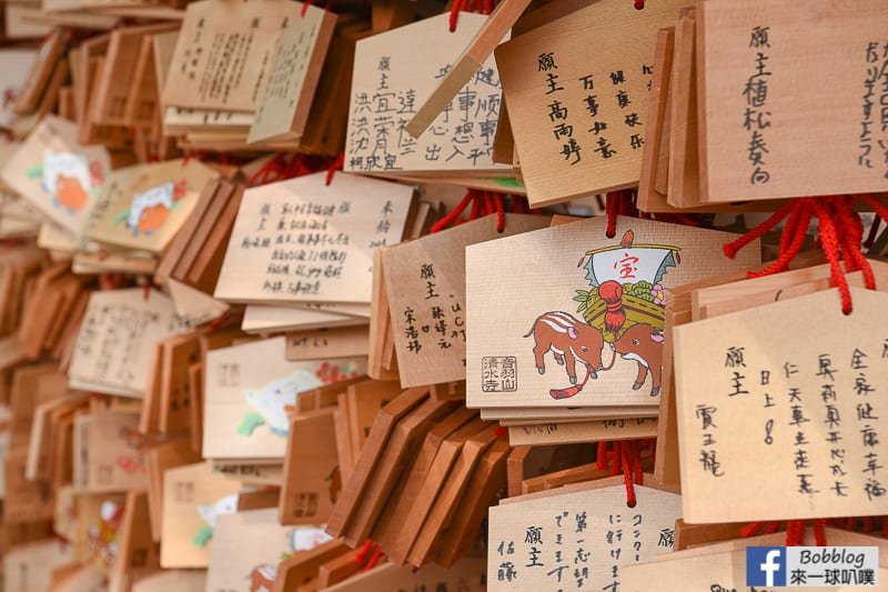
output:
[[[541,314],[524,337],[531,335],[534,335],[536,370],[541,374],[546,372],[544,357],[549,351],[554,354],[555,361],[565,367],[571,384],[576,384],[577,360],[586,365],[593,379],[598,378],[597,372],[603,370],[602,332],[566,312],[552,311]]]

